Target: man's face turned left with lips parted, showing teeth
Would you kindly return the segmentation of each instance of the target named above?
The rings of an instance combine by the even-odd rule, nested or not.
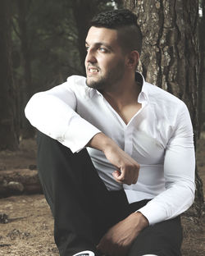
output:
[[[117,41],[117,31],[92,26],[85,46],[86,84],[95,89],[111,89],[125,72],[125,56]]]

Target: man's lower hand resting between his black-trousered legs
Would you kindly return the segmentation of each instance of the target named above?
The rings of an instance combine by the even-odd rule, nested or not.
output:
[[[142,213],[132,213],[107,231],[97,249],[103,254],[125,256],[136,236],[146,226],[148,220]]]

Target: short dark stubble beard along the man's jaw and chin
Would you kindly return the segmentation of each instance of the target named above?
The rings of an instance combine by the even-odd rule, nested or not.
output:
[[[92,65],[93,66],[93,65]],[[99,69],[99,72],[101,69]],[[112,70],[107,71],[105,75],[99,75],[98,79],[86,78],[86,85],[90,88],[104,90],[112,89],[112,87],[119,82],[125,73],[125,64],[123,61],[119,61]]]

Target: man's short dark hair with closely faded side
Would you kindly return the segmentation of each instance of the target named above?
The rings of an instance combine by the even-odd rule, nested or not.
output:
[[[127,9],[103,11],[93,17],[90,26],[118,30],[119,43],[125,52],[141,52],[142,34],[133,12]]]

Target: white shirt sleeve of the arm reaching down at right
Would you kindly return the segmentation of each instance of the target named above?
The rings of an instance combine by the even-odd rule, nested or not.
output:
[[[175,131],[166,145],[164,159],[165,191],[158,194],[139,212],[150,225],[176,217],[194,202],[195,154],[193,128],[189,112],[181,103]]]

